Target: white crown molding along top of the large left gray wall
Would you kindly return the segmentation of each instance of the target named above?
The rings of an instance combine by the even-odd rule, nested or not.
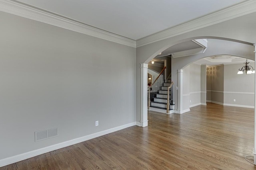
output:
[[[0,0],[0,11],[40,21],[43,23],[48,23],[57,27],[62,27],[93,37],[101,38],[107,41],[112,41],[114,43],[119,43],[130,47],[136,47],[135,40],[128,39],[126,37],[122,37],[120,35],[104,31],[102,29],[91,27],[79,21],[75,21],[64,16],[60,16],[58,14],[48,12],[46,10],[41,10],[39,8],[35,8],[21,2],[12,0]]]

